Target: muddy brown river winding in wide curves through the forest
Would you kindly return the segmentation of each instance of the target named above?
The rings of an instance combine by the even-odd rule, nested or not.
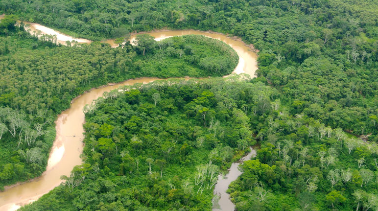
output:
[[[67,40],[76,40],[79,43],[91,42],[85,39],[72,38],[68,35],[59,33],[37,23],[30,23],[28,27],[30,29],[30,33],[34,33],[36,32],[36,30],[41,30],[43,34],[55,34],[57,37],[57,42],[62,44],[65,44]],[[161,31],[148,34],[154,36],[156,40],[189,34],[205,35],[207,37],[218,39],[233,47],[239,55],[239,63],[234,70],[234,73],[246,73],[251,77],[255,77],[255,71],[258,69],[257,54],[251,50],[251,47],[246,46],[243,42],[237,39],[232,39],[222,34],[195,30]],[[135,39],[135,36],[136,35],[131,36],[131,40]],[[113,47],[116,47],[113,40],[107,40],[105,42],[111,44]],[[56,138],[51,148],[47,170],[42,174],[42,176],[31,181],[5,187],[5,191],[0,192],[0,211],[15,211],[21,206],[37,200],[43,194],[61,184],[61,175],[69,176],[73,166],[82,163],[80,154],[83,150],[83,123],[85,121],[83,108],[86,104],[90,104],[94,99],[100,97],[104,92],[117,89],[120,86],[133,85],[135,83],[145,84],[154,80],[161,79],[131,79],[116,85],[108,85],[105,87],[92,89],[89,92],[82,94],[72,100],[71,107],[68,110],[62,112],[55,121]],[[231,168],[231,172],[232,175],[235,174],[233,168]],[[218,184],[220,183],[221,182],[219,181]]]

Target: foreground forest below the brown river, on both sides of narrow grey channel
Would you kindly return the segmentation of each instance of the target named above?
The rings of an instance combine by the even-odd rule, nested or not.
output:
[[[87,109],[85,163],[22,210],[211,210],[216,175],[255,140],[256,159],[229,189],[238,211],[378,208],[378,145],[290,115],[258,80],[123,90]]]

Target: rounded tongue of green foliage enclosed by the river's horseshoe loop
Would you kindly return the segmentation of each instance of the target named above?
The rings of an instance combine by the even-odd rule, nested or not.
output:
[[[201,77],[211,72],[210,75],[222,76],[231,73],[238,64],[239,57],[234,49],[205,36],[172,37],[151,45],[155,47],[146,49],[146,58],[140,65],[145,75]],[[143,49],[139,48],[140,54]],[[148,50],[154,53],[149,54]]]

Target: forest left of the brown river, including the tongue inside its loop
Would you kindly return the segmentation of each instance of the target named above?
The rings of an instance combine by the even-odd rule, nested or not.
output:
[[[161,42],[139,36],[137,42],[146,43],[147,50],[129,42],[117,48],[100,43],[66,47],[52,44],[49,36],[38,40],[22,26],[14,27],[15,21],[1,23],[11,23],[8,36],[0,37],[1,188],[45,171],[56,115],[85,90],[143,76],[221,76],[238,61],[230,46],[204,36]]]

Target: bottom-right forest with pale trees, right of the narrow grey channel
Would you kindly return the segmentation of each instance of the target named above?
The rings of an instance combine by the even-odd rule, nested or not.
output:
[[[253,125],[260,149],[228,190],[237,211],[378,209],[377,143],[275,109]]]

